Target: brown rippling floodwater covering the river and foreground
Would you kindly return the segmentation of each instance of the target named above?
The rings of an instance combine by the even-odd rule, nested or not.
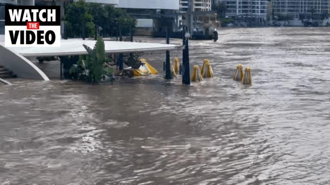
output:
[[[225,29],[191,41],[191,66],[215,72],[191,86],[163,79],[165,53],[144,54],[159,76],[114,85],[2,85],[0,184],[329,184],[329,43],[329,28]]]

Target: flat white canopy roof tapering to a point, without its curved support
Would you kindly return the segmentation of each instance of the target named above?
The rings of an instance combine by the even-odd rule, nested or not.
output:
[[[21,54],[25,57],[38,56],[66,56],[66,55],[85,55],[87,54],[82,44],[91,48],[96,41],[91,40],[61,40],[61,47],[9,47],[8,49]],[[4,43],[0,43],[4,45]],[[106,53],[130,53],[145,51],[166,51],[177,50],[181,46],[157,44],[157,43],[136,43],[104,41]]]

